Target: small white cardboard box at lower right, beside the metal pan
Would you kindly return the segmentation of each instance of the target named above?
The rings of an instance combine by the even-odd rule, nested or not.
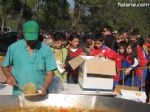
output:
[[[146,94],[141,91],[121,90],[122,98],[137,102],[146,102]]]

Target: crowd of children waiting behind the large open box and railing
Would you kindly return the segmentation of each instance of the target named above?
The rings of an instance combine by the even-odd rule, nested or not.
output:
[[[106,25],[96,33],[55,32],[50,38],[45,39],[47,42],[44,42],[53,49],[56,60],[61,61],[60,66],[65,68],[62,74],[58,70],[55,72],[62,80],[78,83],[78,68],[73,70],[68,64],[69,60],[79,55],[106,57],[116,62],[114,88],[122,84],[123,73],[124,85],[131,86],[131,74],[134,71],[134,86],[142,85],[149,91],[150,35],[144,38],[138,29],[129,32],[124,27],[114,33],[112,27]]]

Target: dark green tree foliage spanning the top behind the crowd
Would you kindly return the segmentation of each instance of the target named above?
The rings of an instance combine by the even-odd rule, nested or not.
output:
[[[118,3],[150,3],[149,0],[76,0],[75,3],[81,7],[76,10],[77,17],[72,18],[67,0],[47,0],[45,4],[39,4],[39,0],[0,0],[0,21],[5,14],[5,25],[17,29],[21,16],[23,19],[31,18],[35,8],[42,29],[47,31],[70,30],[74,23],[77,31],[94,31],[103,24],[109,24],[114,30],[119,27],[131,31],[139,28],[141,34],[149,33],[149,7],[118,6]]]

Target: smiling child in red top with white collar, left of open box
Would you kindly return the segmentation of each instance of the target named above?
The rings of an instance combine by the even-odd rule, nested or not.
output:
[[[84,49],[82,47],[79,47],[80,37],[78,34],[72,33],[70,35],[69,42],[70,42],[70,47],[68,48],[67,62],[79,55],[85,55]],[[71,66],[67,63],[68,83],[75,83],[75,84],[78,83],[78,71],[79,71],[79,67],[73,70]]]

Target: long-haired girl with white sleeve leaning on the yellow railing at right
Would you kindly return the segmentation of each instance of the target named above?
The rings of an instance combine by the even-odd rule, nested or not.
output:
[[[132,85],[132,72],[139,65],[139,60],[137,56],[137,43],[130,41],[127,43],[125,60],[122,63],[122,68],[127,68],[125,70],[124,84],[126,86]],[[122,80],[122,77],[120,77]],[[138,77],[134,75],[134,86],[139,86]]]

